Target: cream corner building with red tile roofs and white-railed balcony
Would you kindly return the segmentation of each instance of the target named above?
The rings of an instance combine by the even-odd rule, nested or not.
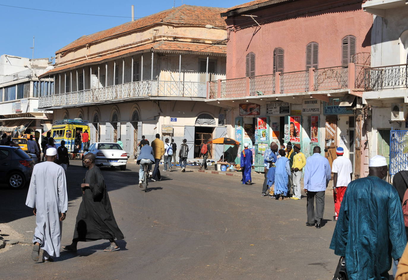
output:
[[[182,5],[82,36],[55,53],[55,89],[40,98],[54,119],[89,120],[91,142],[122,138],[131,157],[142,135],[186,138],[189,158],[226,133],[224,108],[206,103],[206,81],[225,78],[222,9]],[[213,155],[222,149],[213,147]]]

